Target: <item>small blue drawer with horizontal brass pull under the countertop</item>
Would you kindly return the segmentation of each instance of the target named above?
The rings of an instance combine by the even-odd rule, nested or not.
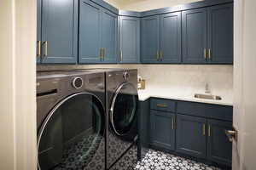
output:
[[[170,99],[151,99],[150,109],[158,111],[172,111],[176,110],[176,102]]]

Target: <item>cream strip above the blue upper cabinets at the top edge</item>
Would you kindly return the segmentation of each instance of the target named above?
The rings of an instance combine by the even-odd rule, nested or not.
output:
[[[116,8],[123,10],[143,11],[154,8],[166,8],[184,3],[194,3],[201,0],[105,0]]]

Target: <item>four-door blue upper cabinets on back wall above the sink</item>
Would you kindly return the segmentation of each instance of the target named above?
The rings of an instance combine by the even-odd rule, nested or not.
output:
[[[142,62],[233,63],[233,3],[142,20]]]

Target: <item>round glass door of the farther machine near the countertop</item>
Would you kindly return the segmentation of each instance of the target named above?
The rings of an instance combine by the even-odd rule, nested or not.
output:
[[[131,129],[137,116],[137,88],[130,82],[123,83],[113,96],[110,109],[110,122],[113,131],[123,136]]]

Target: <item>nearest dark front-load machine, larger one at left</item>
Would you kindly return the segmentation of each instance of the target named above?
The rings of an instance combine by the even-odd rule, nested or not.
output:
[[[105,169],[105,73],[37,73],[38,169]]]

